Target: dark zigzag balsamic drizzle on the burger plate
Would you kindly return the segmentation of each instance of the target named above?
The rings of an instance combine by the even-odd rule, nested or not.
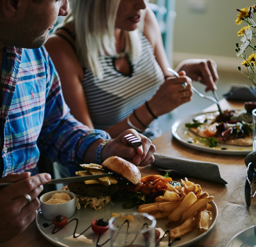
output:
[[[74,230],[74,233],[73,233],[73,238],[78,238],[79,236],[81,236],[84,232],[86,232],[86,231],[92,226],[92,225],[90,225],[90,226],[89,226],[86,230],[84,230],[81,234],[79,234],[78,236],[75,236],[75,234],[76,234],[76,229],[77,229],[77,226],[78,226],[78,219],[77,219],[77,218],[74,218],[74,219],[70,220],[67,224],[69,224],[69,223],[72,222],[73,220],[76,221],[76,227],[75,227],[75,230]],[[126,240],[125,240],[125,246],[126,246],[127,241],[128,241],[128,236],[129,236],[129,221],[128,221],[127,219],[126,219],[126,220],[124,221],[124,223],[120,226],[119,231],[121,230],[121,228],[123,227],[123,225],[124,225],[125,223],[127,223],[127,234],[126,234]],[[49,227],[49,226],[52,225],[52,224],[53,224],[53,223],[51,223],[51,224],[44,223],[44,224],[43,224],[43,227],[46,228],[46,227]],[[67,225],[67,224],[66,224],[66,225]],[[145,226],[148,227],[148,224],[147,224],[147,223],[144,223],[143,226],[142,226],[142,228],[141,228],[141,230],[143,230],[143,228],[144,228]],[[57,232],[60,231],[63,227],[60,228],[60,229],[58,229],[57,231],[54,231],[55,228],[56,228],[56,226],[54,226],[54,228],[53,228],[53,230],[52,230],[52,234],[57,233]],[[157,246],[159,245],[159,243],[163,240],[165,234],[167,234],[167,233],[169,233],[169,239],[168,239],[168,246],[169,246],[169,247],[172,246],[176,241],[181,240],[180,238],[175,238],[175,239],[171,242],[170,230],[167,230],[167,231],[164,233],[163,237],[156,243],[156,247],[157,247]],[[116,241],[116,238],[117,238],[118,234],[119,234],[119,233],[117,233],[117,235],[115,236],[115,239],[113,240],[113,242]],[[136,240],[138,234],[139,234],[139,233],[136,234],[134,240],[131,242],[130,245],[132,245],[133,242]],[[109,238],[107,241],[105,241],[103,244],[100,245],[100,244],[99,244],[100,236],[101,236],[101,234],[99,234],[99,237],[98,237],[98,240],[97,240],[97,244],[96,244],[97,247],[101,247],[101,246],[105,245],[105,244],[110,240],[110,238]]]

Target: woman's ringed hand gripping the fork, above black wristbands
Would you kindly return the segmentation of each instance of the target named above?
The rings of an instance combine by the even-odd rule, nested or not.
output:
[[[170,112],[192,99],[191,79],[184,71],[179,72],[179,75],[180,77],[166,78],[156,94],[148,101],[149,107],[156,116]]]

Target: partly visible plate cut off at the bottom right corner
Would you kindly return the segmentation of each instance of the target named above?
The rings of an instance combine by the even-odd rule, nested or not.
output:
[[[238,232],[229,241],[227,247],[256,247],[256,237],[254,233],[254,226]]]

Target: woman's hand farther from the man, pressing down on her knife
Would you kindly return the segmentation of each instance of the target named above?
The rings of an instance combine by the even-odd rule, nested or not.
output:
[[[219,80],[217,65],[211,59],[188,59],[181,62],[177,71],[184,70],[189,78],[206,85],[205,91],[217,90]]]

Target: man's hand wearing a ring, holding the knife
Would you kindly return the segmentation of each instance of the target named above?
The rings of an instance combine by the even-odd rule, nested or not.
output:
[[[30,172],[11,173],[0,179],[0,183],[14,183],[0,189],[0,243],[9,241],[32,222],[40,207],[37,196],[50,179],[47,173],[30,177]],[[31,203],[25,194],[31,196]]]

